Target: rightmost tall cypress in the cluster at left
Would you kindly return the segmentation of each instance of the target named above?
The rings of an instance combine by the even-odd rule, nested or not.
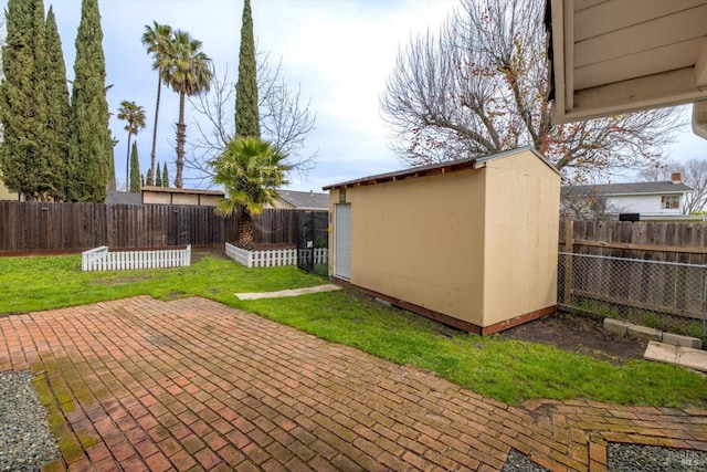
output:
[[[113,141],[102,43],[98,0],[83,0],[71,99],[66,189],[71,201],[103,202],[109,181]]]

